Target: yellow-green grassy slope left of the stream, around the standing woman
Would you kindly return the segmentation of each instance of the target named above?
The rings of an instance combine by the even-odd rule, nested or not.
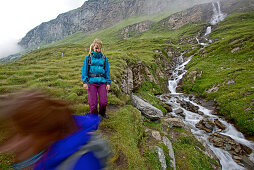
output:
[[[128,23],[133,24],[137,21],[134,22],[130,19],[130,21],[124,22],[126,23],[123,25],[126,26]],[[114,113],[110,112],[111,119],[103,121],[101,124],[101,131],[113,133],[108,135],[114,153],[111,160],[112,168],[158,169],[160,165],[157,157],[154,151],[149,149],[149,141],[144,135],[144,129],[140,126],[139,112],[127,105],[129,97],[122,94],[120,90],[121,74],[129,62],[136,63],[138,60],[143,61],[151,68],[157,67],[154,63],[155,49],[163,51],[167,46],[179,46],[181,50],[189,48],[189,45],[177,44],[179,36],[195,35],[198,30],[203,28],[203,24],[186,25],[177,31],[162,30],[161,32],[157,32],[156,27],[158,26],[155,26],[147,33],[127,40],[118,37],[118,29],[123,25],[116,25],[113,28],[84,37],[77,33],[66,38],[67,44],[62,44],[62,41],[59,43],[61,45],[54,44],[57,46],[33,51],[22,56],[15,63],[1,65],[0,94],[8,95],[15,90],[24,88],[41,88],[58,98],[72,102],[72,107],[77,114],[88,112],[87,92],[82,89],[81,67],[84,56],[88,53],[89,44],[95,37],[98,37],[105,42],[105,54],[109,58],[111,67],[113,82],[112,92],[109,94],[109,104],[121,108]],[[112,30],[110,31],[110,29]],[[168,40],[176,44],[167,44]],[[73,44],[74,42],[76,44]],[[64,57],[61,57],[62,53]],[[197,59],[194,59],[193,63]],[[189,68],[192,69],[196,64],[190,65]],[[155,75],[154,71],[152,73]],[[155,88],[150,88],[151,86]],[[159,102],[153,97],[154,93],[158,91],[156,86],[150,82],[144,82],[144,86],[137,93],[160,107]],[[191,91],[188,87],[186,89]],[[153,124],[160,128],[159,123],[146,123],[145,126],[153,126]],[[186,167],[189,169],[211,169],[209,163],[211,161],[208,157],[204,153],[196,151],[198,148],[196,148],[197,144],[192,135],[186,132],[183,135],[185,137],[175,139],[173,142],[174,150],[177,153],[177,167],[179,169],[186,169]],[[189,136],[187,138],[190,140],[186,140],[186,136]],[[1,159],[0,167],[6,166],[8,163],[9,159],[4,161],[5,158]],[[187,165],[182,164],[182,159],[186,160]]]

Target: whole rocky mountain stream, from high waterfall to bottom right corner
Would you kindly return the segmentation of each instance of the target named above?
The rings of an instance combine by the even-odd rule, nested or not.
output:
[[[216,8],[217,5],[217,8]],[[221,12],[220,4],[217,2],[213,3],[213,16],[211,18],[210,24],[215,25],[225,18],[225,14]],[[211,33],[211,26],[208,26],[205,38]],[[198,38],[196,38],[198,44],[206,46],[212,43],[208,40],[208,43],[200,43]],[[248,161],[254,162],[254,142],[245,139],[244,135],[237,131],[237,129],[225,119],[213,115],[213,110],[209,110],[198,104],[193,97],[189,97],[182,93],[177,93],[176,88],[179,81],[183,78],[184,74],[187,72],[185,66],[189,63],[192,57],[189,57],[184,61],[184,53],[182,53],[176,59],[176,65],[173,70],[171,77],[168,80],[168,89],[171,93],[163,94],[159,98],[172,106],[172,116],[180,118],[186,125],[191,129],[191,132],[213,151],[213,153],[220,160],[220,164],[223,170],[242,170],[245,168],[252,169],[253,167],[244,167],[242,162],[243,152],[239,151],[239,148],[248,149],[248,154],[245,154]],[[196,108],[196,111],[189,109],[188,106]],[[181,114],[179,114],[181,113]],[[218,123],[219,122],[219,123]],[[216,126],[218,125],[218,126]],[[218,142],[218,141],[227,142]],[[233,145],[230,145],[233,144]],[[238,148],[238,149],[237,149]],[[251,153],[252,152],[252,153]],[[238,156],[236,153],[238,153]],[[250,154],[251,153],[251,154]],[[251,164],[252,164],[251,163]],[[253,164],[252,164],[253,165]]]

